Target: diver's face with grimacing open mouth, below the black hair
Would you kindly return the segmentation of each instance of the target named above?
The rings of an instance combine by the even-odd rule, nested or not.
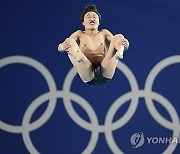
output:
[[[82,23],[85,30],[96,30],[99,26],[99,16],[95,12],[87,12]]]

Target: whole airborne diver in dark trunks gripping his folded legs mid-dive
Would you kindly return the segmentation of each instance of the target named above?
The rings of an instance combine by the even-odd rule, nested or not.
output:
[[[129,47],[122,35],[107,29],[99,30],[101,15],[95,5],[87,5],[81,14],[84,31],[77,30],[63,43],[58,51],[66,51],[84,83],[104,84],[114,76],[119,59]]]

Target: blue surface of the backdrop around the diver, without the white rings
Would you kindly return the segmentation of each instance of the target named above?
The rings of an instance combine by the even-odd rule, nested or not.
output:
[[[99,29],[113,34],[122,33],[130,42],[122,62],[134,73],[139,89],[144,89],[151,69],[161,60],[180,54],[180,2],[178,0],[1,0],[0,1],[0,58],[14,55],[31,57],[42,63],[52,74],[58,90],[72,68],[66,53],[58,53],[57,46],[78,29],[83,29],[80,14],[88,3],[96,4],[102,15]],[[104,124],[108,109],[115,99],[131,91],[129,82],[120,71],[107,85],[91,87],[78,75],[71,91],[86,99],[95,110],[99,123]],[[180,116],[180,65],[166,67],[158,74],[153,91],[167,98]],[[22,64],[2,67],[0,70],[0,120],[21,125],[22,117],[31,102],[48,92],[44,78],[35,69]],[[33,144],[43,154],[78,154],[87,146],[90,131],[78,126],[66,112],[63,100],[58,99],[50,119],[30,133]],[[114,121],[124,115],[129,102],[116,113]],[[38,119],[47,103],[33,114]],[[163,117],[171,121],[167,110],[157,103]],[[86,112],[74,104],[77,113],[89,121]],[[169,137],[167,130],[150,115],[143,98],[130,121],[113,132],[116,144],[125,153],[162,153],[168,144],[144,144],[132,148],[130,137],[136,132],[145,136]],[[178,145],[174,153],[179,153]],[[0,130],[0,153],[26,154],[29,151],[21,134]],[[100,133],[93,153],[112,153],[104,133]]]

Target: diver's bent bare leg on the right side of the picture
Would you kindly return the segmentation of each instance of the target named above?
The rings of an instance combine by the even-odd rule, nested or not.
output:
[[[111,79],[115,73],[118,61],[123,57],[124,45],[122,41],[124,36],[117,34],[110,43],[109,50],[101,62],[102,75]]]

